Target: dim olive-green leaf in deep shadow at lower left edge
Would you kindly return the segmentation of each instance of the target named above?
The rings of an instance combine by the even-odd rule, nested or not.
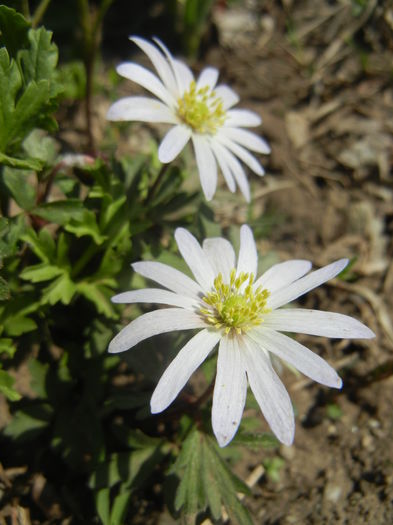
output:
[[[17,410],[11,422],[5,427],[4,434],[15,440],[31,441],[45,430],[52,413],[52,408],[46,404]]]

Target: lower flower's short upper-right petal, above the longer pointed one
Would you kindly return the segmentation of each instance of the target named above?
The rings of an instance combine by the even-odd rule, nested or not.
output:
[[[276,292],[285,286],[303,277],[311,270],[310,261],[303,259],[293,259],[273,265],[254,283],[254,288],[261,286],[270,293]]]

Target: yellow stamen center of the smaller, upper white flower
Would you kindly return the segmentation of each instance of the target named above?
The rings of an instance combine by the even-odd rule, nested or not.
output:
[[[214,135],[225,122],[222,100],[209,86],[197,89],[193,81],[177,102],[180,120],[198,133]]]

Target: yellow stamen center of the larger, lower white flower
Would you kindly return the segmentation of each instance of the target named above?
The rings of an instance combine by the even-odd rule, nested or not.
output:
[[[246,332],[263,322],[264,314],[269,312],[266,302],[270,295],[261,287],[253,289],[254,275],[231,270],[229,283],[223,282],[219,273],[214,279],[214,289],[203,297],[206,308],[200,312],[205,320],[226,334]]]

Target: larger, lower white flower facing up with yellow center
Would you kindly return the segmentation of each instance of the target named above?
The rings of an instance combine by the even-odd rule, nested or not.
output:
[[[237,264],[233,247],[225,239],[206,239],[201,247],[183,228],[176,230],[175,238],[195,281],[162,263],[133,264],[137,273],[166,290],[125,292],[113,301],[153,302],[171,308],[132,321],[111,341],[109,351],[123,352],[148,337],[172,330],[201,329],[165,370],[153,393],[151,411],[165,410],[219,343],[212,408],[219,445],[227,445],[240,424],[247,379],[272,431],[280,441],[291,444],[295,428],[292,404],[272,367],[271,355],[323,385],[341,388],[342,381],[326,361],[280,332],[366,339],[374,333],[346,315],[281,307],[335,277],[348,260],[340,259],[311,273],[309,261],[286,261],[255,279],[257,251],[248,226],[240,231]]]

